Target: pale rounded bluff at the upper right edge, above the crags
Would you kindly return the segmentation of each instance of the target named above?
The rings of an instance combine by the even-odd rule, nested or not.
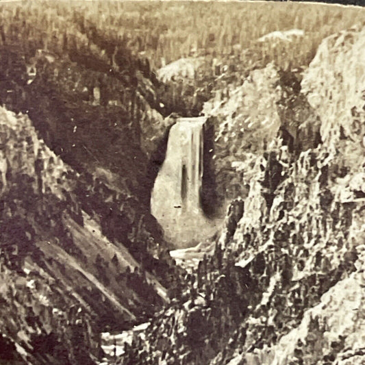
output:
[[[361,170],[364,157],[364,35],[358,26],[326,38],[301,83],[320,117],[323,143],[336,146],[342,165],[353,172]]]

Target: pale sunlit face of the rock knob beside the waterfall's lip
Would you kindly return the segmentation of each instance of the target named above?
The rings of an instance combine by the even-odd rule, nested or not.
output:
[[[237,153],[262,151],[276,136],[280,125],[278,81],[277,69],[269,64],[252,71],[242,86],[221,90],[215,99],[205,103],[203,113],[218,118],[216,149],[223,150],[230,140],[232,158],[238,158]]]

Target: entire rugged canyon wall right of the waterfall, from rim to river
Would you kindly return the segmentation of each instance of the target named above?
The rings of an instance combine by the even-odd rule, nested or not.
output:
[[[336,34],[320,45],[303,80],[267,66],[252,74],[253,85],[247,80],[231,93],[239,95],[237,114],[257,121],[264,135],[250,134],[233,107],[225,111],[228,97],[210,108],[217,140],[240,142],[243,122],[244,143],[255,141],[251,151],[224,155],[237,159],[245,192],[229,205],[214,253],[177,288],[175,306],[153,320],[149,347],[127,351],[122,364],[364,361],[363,42],[362,27]],[[257,108],[269,102],[267,123],[264,109],[257,118],[244,109],[251,94],[243,93],[255,95],[265,77]]]

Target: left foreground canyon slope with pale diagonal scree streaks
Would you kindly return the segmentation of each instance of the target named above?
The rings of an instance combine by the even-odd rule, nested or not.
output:
[[[1,333],[27,364],[93,364],[100,331],[168,301],[153,235],[133,201],[65,164],[27,116],[1,108],[0,129]]]

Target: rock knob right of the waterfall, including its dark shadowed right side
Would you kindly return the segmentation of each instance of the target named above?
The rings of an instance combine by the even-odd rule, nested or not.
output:
[[[319,120],[301,93],[299,77],[268,64],[251,71],[242,85],[216,90],[216,97],[205,103],[203,112],[214,123],[214,174],[221,206],[247,196],[254,160],[262,159],[277,136],[290,154],[318,146]],[[266,162],[260,164],[257,168],[264,168]]]

